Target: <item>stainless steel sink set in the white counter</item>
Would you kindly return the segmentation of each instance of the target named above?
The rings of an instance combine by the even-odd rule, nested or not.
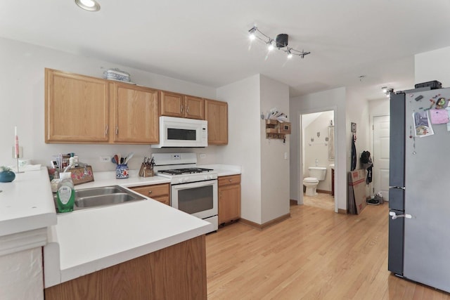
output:
[[[141,195],[137,195],[119,185],[84,188],[82,190],[75,190],[75,205],[73,209],[87,209],[145,199],[146,198]],[[55,207],[58,211],[56,194],[53,195],[53,200],[55,201]]]

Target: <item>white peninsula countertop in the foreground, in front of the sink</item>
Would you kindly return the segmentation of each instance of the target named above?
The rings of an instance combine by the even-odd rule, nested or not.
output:
[[[155,200],[58,214],[44,247],[45,287],[158,251],[212,224]]]

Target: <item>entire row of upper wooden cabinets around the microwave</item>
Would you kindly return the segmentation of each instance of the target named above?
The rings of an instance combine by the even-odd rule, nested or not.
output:
[[[159,116],[205,119],[228,144],[228,103],[45,69],[46,143],[159,143]]]

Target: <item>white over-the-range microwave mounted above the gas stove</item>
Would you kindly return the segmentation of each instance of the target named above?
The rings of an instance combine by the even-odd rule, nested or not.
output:
[[[160,143],[151,148],[206,147],[208,122],[199,119],[160,117]]]

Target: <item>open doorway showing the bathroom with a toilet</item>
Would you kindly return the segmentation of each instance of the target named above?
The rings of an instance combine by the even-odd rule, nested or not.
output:
[[[299,204],[338,211],[334,200],[335,110],[307,112],[300,115]],[[304,178],[311,176],[310,167],[325,169],[325,178],[316,185],[316,195],[305,193]],[[310,174],[311,173],[311,174]],[[314,177],[316,178],[316,177]]]

